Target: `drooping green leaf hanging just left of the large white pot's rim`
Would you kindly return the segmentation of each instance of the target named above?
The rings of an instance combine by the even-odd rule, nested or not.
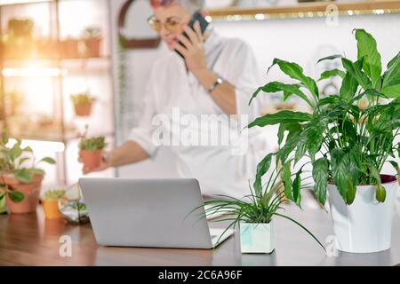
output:
[[[314,192],[318,201],[324,205],[326,201],[326,188],[328,184],[328,160],[326,157],[313,162]]]

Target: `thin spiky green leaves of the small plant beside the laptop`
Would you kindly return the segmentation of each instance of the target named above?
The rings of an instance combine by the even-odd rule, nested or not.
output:
[[[269,154],[264,163],[260,164],[259,167],[269,168],[271,159],[272,154]],[[252,224],[268,224],[274,217],[283,217],[292,221],[296,225],[299,225],[314,240],[316,240],[322,248],[324,248],[324,245],[318,241],[316,236],[308,231],[306,227],[281,212],[284,210],[282,203],[284,202],[285,188],[280,177],[282,177],[283,174],[286,174],[283,171],[284,170],[274,170],[269,176],[268,182],[265,185],[260,183],[260,179],[256,181],[253,188],[251,185],[249,185],[250,194],[244,196],[244,198],[241,200],[226,195],[219,195],[221,198],[223,198],[223,200],[205,201],[204,206],[208,207],[205,209],[205,216],[223,213],[224,217],[220,217],[218,222],[230,221],[230,225],[228,225],[224,233],[228,232],[228,229],[231,227],[235,228],[236,225],[241,222]],[[300,192],[301,187],[307,186],[307,184],[302,185],[303,181],[304,180],[300,179],[300,175],[296,175],[294,192]]]

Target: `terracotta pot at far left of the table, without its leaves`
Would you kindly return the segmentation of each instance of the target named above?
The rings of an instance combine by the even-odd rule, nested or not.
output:
[[[24,194],[24,199],[20,202],[14,202],[9,194],[6,195],[6,204],[10,213],[20,214],[36,211],[42,186],[42,175],[35,175],[30,183],[22,183],[10,175],[4,175],[2,179],[6,185],[11,185],[13,190]]]

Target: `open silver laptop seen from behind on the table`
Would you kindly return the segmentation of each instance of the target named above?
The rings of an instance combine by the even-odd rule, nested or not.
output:
[[[79,185],[100,245],[214,248],[233,233],[209,229],[196,179],[83,177]]]

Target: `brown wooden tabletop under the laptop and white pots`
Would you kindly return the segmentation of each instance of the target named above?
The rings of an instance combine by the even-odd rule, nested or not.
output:
[[[286,213],[306,225],[319,240],[332,234],[331,219],[304,194],[303,211]],[[213,225],[212,225],[213,226]],[[59,255],[60,236],[72,239],[72,256]],[[325,246],[328,243],[325,243]],[[108,248],[94,240],[91,225],[45,220],[41,207],[27,215],[0,215],[0,265],[395,265],[400,264],[400,202],[396,202],[392,248],[374,254],[328,257],[298,226],[276,218],[276,250],[271,255],[241,254],[238,233],[214,250]]]

